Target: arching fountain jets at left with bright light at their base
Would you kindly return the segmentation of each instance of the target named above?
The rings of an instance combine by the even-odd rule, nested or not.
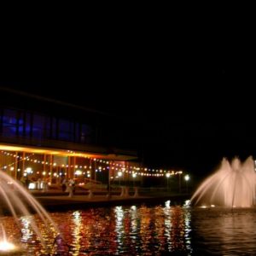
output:
[[[13,232],[10,237],[4,225],[6,216],[12,216],[14,221],[11,223],[15,222],[14,227],[9,228]],[[56,237],[59,239],[61,234],[44,207],[21,183],[0,171],[0,255],[21,255],[22,243],[38,243],[42,247],[41,253],[50,255],[55,247]]]

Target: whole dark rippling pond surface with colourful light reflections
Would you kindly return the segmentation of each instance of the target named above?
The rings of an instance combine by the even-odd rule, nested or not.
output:
[[[67,241],[47,237],[51,255],[256,255],[255,208],[192,208],[165,201],[50,215]],[[46,254],[26,218],[21,232],[11,217],[0,222],[9,240],[21,237],[18,255]],[[41,228],[48,236],[50,227]]]

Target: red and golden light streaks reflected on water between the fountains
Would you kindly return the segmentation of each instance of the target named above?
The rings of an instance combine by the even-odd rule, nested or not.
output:
[[[190,209],[172,206],[170,201],[163,206],[90,208],[55,212],[51,216],[68,244],[70,255],[161,255],[158,253],[176,252],[189,255],[192,252]],[[31,220],[20,218],[21,239],[27,241],[22,247],[42,253],[39,243],[35,245]],[[35,221],[39,219],[35,218]],[[57,247],[55,237],[49,235],[51,227],[45,224],[38,227],[48,246]],[[12,236],[20,239],[15,232]],[[67,247],[64,251],[67,253]]]

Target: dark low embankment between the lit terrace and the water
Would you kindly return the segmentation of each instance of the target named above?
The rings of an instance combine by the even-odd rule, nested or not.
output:
[[[129,195],[122,197],[119,194],[113,194],[111,198],[108,198],[106,193],[95,194],[92,198],[84,193],[75,193],[72,197],[68,196],[66,192],[38,192],[32,193],[33,197],[40,203],[47,212],[65,212],[72,210],[82,210],[92,207],[114,207],[114,206],[131,206],[131,205],[160,205],[164,204],[165,201],[170,200],[171,206],[183,205],[185,200],[189,200],[191,195],[165,195],[160,193],[156,194],[145,194],[134,197]],[[24,201],[28,211],[35,213],[36,211],[32,206]],[[3,215],[12,215],[9,211],[9,207],[4,203],[1,203],[0,212]],[[19,211],[18,211],[19,212]]]

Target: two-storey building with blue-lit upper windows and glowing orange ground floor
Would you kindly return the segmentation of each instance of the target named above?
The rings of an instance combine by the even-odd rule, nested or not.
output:
[[[50,184],[60,184],[63,177],[82,183],[134,179],[137,150],[112,143],[113,116],[6,88],[0,92],[3,172],[20,181],[29,177]]]

